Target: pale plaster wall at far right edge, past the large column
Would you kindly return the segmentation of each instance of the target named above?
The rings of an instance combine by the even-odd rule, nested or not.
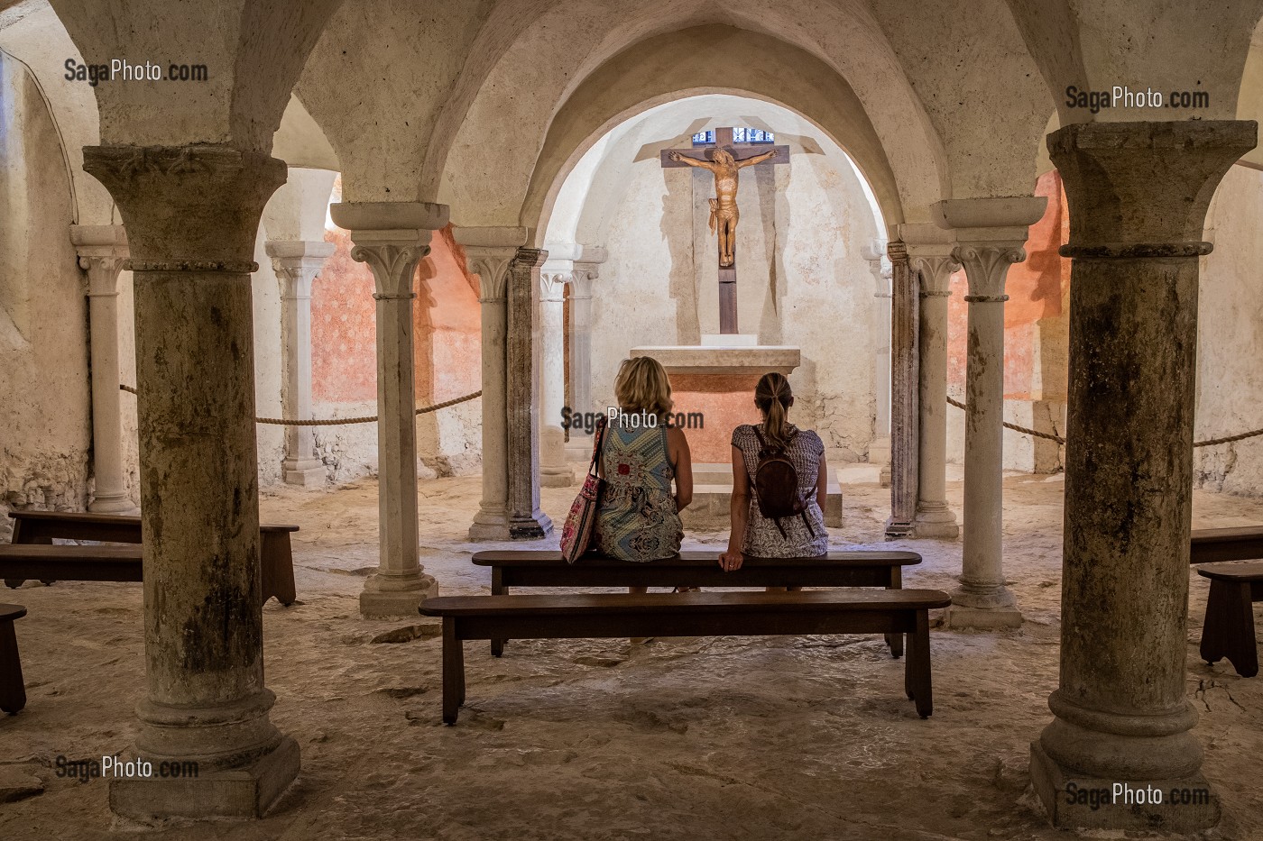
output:
[[[1263,427],[1263,172],[1233,167],[1215,193],[1199,295],[1197,413],[1194,437]],[[1263,494],[1263,437],[1194,450],[1207,490]]]

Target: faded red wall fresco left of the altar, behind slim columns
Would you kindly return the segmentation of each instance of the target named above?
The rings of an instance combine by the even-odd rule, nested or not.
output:
[[[378,397],[373,273],[351,259],[350,234],[326,230],[333,254],[312,284],[312,394],[331,403]],[[417,270],[414,362],[417,402],[442,402],[480,388],[481,313],[476,279],[451,225],[436,231]]]

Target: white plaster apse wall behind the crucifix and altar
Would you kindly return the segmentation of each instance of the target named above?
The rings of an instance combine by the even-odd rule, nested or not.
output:
[[[751,112],[775,109],[698,97],[691,106],[674,104],[666,116],[692,107],[696,117],[720,105],[734,110],[706,125],[743,125]],[[739,326],[758,333],[760,343],[802,347],[802,366],[791,376],[796,420],[820,432],[831,461],[860,461],[874,436],[873,356],[880,341],[873,330],[871,273],[860,254],[878,234],[873,206],[846,157],[811,138],[810,124],[783,109],[760,117],[792,139],[791,164],[741,173]],[[683,120],[677,130],[700,128]],[[693,169],[663,169],[657,154],[644,154],[672,145],[662,141],[662,130],[624,131],[624,141],[602,152],[604,165],[621,170],[618,182],[584,173],[595,187],[580,230],[609,253],[592,293],[597,405],[613,403],[614,375],[629,349],[693,345],[701,333],[719,332],[716,245],[706,225],[714,179]]]

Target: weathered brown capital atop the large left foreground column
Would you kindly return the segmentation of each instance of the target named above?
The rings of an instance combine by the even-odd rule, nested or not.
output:
[[[119,205],[135,271],[242,271],[285,164],[232,146],[85,146]]]

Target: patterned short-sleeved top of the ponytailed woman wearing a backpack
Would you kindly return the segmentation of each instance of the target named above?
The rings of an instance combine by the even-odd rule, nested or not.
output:
[[[789,427],[789,429],[796,428]],[[820,436],[811,429],[798,429],[798,434],[786,447],[786,456],[798,474],[798,492],[807,500],[806,514],[811,522],[808,529],[801,516],[781,518],[786,537],[781,537],[775,520],[759,514],[758,491],[754,489],[754,470],[759,466],[759,437],[754,434],[754,427],[743,423],[734,429],[733,446],[741,451],[745,472],[750,477],[750,518],[746,520],[741,552],[755,558],[815,558],[829,552],[825,514],[816,501],[820,460],[825,456],[825,443]]]

